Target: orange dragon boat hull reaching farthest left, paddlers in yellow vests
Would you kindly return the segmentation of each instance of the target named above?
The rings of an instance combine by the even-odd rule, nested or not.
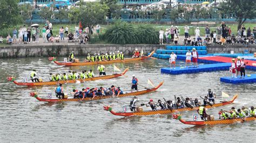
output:
[[[126,68],[123,73],[121,74],[112,74],[112,75],[105,75],[105,76],[97,76],[92,78],[85,78],[85,79],[76,79],[76,80],[60,80],[60,81],[46,81],[46,82],[17,82],[14,77],[7,77],[8,81],[14,82],[17,85],[26,85],[26,86],[43,86],[43,85],[56,85],[59,83],[68,84],[68,83],[83,83],[86,81],[97,81],[97,80],[106,80],[111,78],[116,78],[119,76],[125,75],[125,73],[129,70]]]

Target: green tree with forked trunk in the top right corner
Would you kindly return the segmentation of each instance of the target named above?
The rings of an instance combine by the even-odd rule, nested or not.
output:
[[[241,28],[241,25],[244,24],[247,19],[256,18],[256,2],[252,0],[230,0],[221,3],[218,9],[221,14],[232,14],[238,22],[238,29]]]

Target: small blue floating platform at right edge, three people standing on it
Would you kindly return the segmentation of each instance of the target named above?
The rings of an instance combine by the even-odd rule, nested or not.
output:
[[[245,75],[245,78],[240,78],[240,76],[238,76],[237,78],[220,77],[220,81],[225,83],[233,83],[233,84],[256,83],[256,74],[251,74],[251,76]]]

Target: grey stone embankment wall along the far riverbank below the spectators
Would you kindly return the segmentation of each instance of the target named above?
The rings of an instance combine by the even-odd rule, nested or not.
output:
[[[24,57],[48,57],[48,56],[68,56],[71,51],[77,56],[85,56],[87,53],[110,53],[122,51],[125,55],[131,55],[134,50],[143,49],[144,53],[156,51],[157,49],[165,49],[165,45],[12,45],[0,47],[0,58],[24,58]],[[254,53],[256,45],[208,45],[208,53]]]

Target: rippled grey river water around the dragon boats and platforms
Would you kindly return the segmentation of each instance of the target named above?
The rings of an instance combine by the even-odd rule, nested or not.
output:
[[[59,58],[57,60],[62,60]],[[49,62],[48,58],[0,59],[0,142],[254,142],[255,121],[215,126],[193,126],[172,119],[171,115],[154,115],[145,117],[118,117],[103,110],[104,105],[111,105],[116,111],[123,111],[123,106],[130,103],[132,97],[111,98],[90,102],[44,103],[29,97],[31,91],[39,92],[45,97],[54,92],[55,86],[22,87],[6,81],[7,76],[16,79],[28,77],[33,68],[37,69],[43,80],[51,73],[63,73],[68,70],[89,70],[91,67],[63,67]],[[184,62],[178,61],[178,65]],[[220,83],[221,76],[228,71],[212,73],[167,75],[160,74],[160,68],[169,66],[167,60],[145,60],[144,62],[116,63],[124,70],[129,67],[127,77],[111,80],[100,80],[82,84],[66,84],[64,91],[83,87],[110,87],[112,84],[130,89],[131,76],[137,76],[140,84],[147,85],[147,78],[157,85],[164,84],[157,92],[138,96],[139,103],[147,103],[150,98],[173,99],[174,95],[183,97],[204,96],[211,88],[221,97],[221,91],[230,95],[239,94],[232,105],[208,109],[210,115],[218,117],[220,109],[236,109],[241,106],[255,106],[256,84],[226,84]],[[253,73],[253,71],[246,71]],[[106,65],[106,73],[113,73],[113,65]],[[97,72],[95,72],[97,75]],[[142,88],[142,87],[139,87]],[[53,94],[54,95],[54,94]],[[146,108],[144,107],[144,110]],[[183,118],[192,120],[196,111],[183,112]],[[246,137],[246,138],[245,138]]]

